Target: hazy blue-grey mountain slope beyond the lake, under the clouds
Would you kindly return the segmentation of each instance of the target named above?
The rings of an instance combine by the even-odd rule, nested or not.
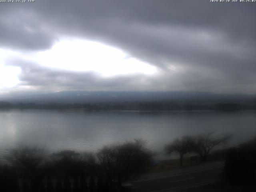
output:
[[[113,92],[113,91],[62,91],[47,94],[27,94],[0,98],[6,102],[256,102],[250,94],[214,94],[210,92]]]

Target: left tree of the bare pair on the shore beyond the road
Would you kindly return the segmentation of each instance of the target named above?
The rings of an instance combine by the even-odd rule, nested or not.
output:
[[[194,150],[194,137],[186,135],[181,138],[176,138],[173,142],[166,145],[164,150],[166,154],[178,153],[180,155],[180,166],[183,165],[183,156]]]

